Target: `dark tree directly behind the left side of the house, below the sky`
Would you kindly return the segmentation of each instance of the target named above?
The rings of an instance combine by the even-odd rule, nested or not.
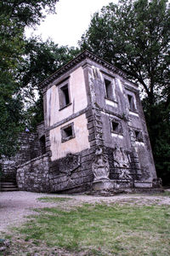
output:
[[[42,42],[41,38],[26,40],[26,57],[20,67],[22,94],[27,103],[25,119],[29,129],[36,130],[43,120],[42,94],[38,88],[44,79],[75,57],[80,49],[58,46],[53,41]]]

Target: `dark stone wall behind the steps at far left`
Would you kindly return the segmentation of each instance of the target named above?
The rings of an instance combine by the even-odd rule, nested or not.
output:
[[[3,158],[1,166],[3,171],[2,181],[15,182],[16,167],[41,154],[37,133],[23,132],[19,137],[20,150],[10,158]]]

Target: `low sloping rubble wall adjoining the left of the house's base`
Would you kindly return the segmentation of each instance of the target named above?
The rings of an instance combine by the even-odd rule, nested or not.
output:
[[[20,190],[49,192],[48,154],[43,154],[18,166],[16,182]]]

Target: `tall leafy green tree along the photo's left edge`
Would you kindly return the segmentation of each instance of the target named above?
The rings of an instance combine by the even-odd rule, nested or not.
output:
[[[0,156],[17,148],[23,131],[23,98],[20,96],[20,67],[24,61],[26,26],[36,26],[54,13],[58,0],[4,0],[0,3]]]

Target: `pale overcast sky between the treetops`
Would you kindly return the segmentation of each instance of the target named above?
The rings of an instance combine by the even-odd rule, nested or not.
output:
[[[56,44],[77,46],[82,33],[88,29],[91,16],[108,3],[117,0],[59,0],[56,4],[56,15],[48,15],[37,27],[33,35],[42,35],[42,39],[51,38]],[[29,37],[32,30],[26,31]]]

